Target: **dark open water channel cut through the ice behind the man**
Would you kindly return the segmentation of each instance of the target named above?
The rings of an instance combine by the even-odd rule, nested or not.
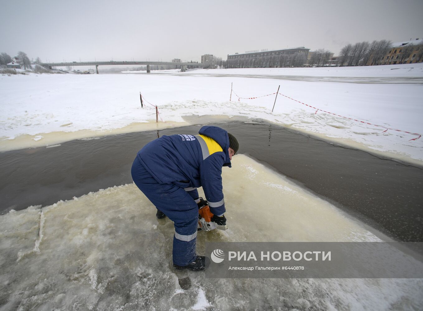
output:
[[[423,241],[422,167],[266,122],[219,126],[237,137],[239,153],[264,162],[391,237]],[[0,211],[47,206],[132,183],[132,161],[143,145],[158,134],[197,134],[199,128],[192,125],[0,153]]]

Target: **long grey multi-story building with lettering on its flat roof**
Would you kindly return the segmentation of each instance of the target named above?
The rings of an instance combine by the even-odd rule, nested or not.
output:
[[[278,67],[302,67],[308,56],[304,46],[290,49],[261,50],[235,53],[228,55],[228,68],[278,68]]]

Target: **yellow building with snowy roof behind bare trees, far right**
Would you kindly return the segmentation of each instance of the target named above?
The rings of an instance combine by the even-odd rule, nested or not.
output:
[[[419,38],[391,44],[388,52],[376,63],[379,65],[412,64],[423,62],[423,40]],[[366,65],[371,65],[368,61]]]

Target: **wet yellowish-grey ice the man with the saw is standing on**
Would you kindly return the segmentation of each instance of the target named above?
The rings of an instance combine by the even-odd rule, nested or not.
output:
[[[207,241],[384,239],[245,155]],[[258,217],[259,215],[259,217]],[[206,279],[171,268],[173,224],[134,184],[0,216],[0,310],[418,310],[421,279]],[[24,254],[24,255],[22,255]],[[189,277],[190,289],[179,280]]]

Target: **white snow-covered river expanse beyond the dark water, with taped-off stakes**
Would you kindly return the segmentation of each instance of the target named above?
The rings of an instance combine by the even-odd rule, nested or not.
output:
[[[0,76],[0,150],[185,125],[188,115],[221,115],[262,118],[421,161],[423,139],[410,139],[423,133],[422,83],[423,64]],[[144,108],[140,92],[148,101]],[[272,95],[259,97],[267,94]],[[243,99],[251,97],[259,98]]]

